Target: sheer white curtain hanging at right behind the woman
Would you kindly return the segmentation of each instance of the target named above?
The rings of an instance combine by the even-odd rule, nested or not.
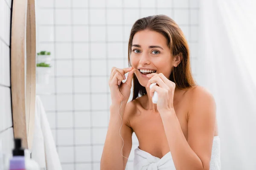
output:
[[[222,170],[256,170],[256,0],[201,0],[199,85],[217,105]]]

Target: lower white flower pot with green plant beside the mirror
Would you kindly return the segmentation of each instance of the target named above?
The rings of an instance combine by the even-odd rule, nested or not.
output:
[[[50,73],[50,67],[36,67],[36,82],[38,84],[49,84]]]

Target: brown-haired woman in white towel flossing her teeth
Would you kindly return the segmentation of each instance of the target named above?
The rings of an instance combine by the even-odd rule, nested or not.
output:
[[[128,62],[132,67],[111,70],[112,104],[101,170],[125,169],[133,132],[139,141],[134,170],[219,169],[215,100],[195,84],[188,43],[179,26],[166,15],[137,20],[131,29]],[[132,79],[133,99],[128,102]],[[157,85],[150,89],[152,83]],[[154,91],[157,104],[152,102]]]

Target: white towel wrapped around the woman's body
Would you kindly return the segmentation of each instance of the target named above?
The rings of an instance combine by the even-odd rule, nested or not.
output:
[[[134,170],[176,170],[171,152],[161,159],[137,147],[134,150]],[[212,156],[210,170],[221,170],[220,139],[214,136],[212,143]]]

